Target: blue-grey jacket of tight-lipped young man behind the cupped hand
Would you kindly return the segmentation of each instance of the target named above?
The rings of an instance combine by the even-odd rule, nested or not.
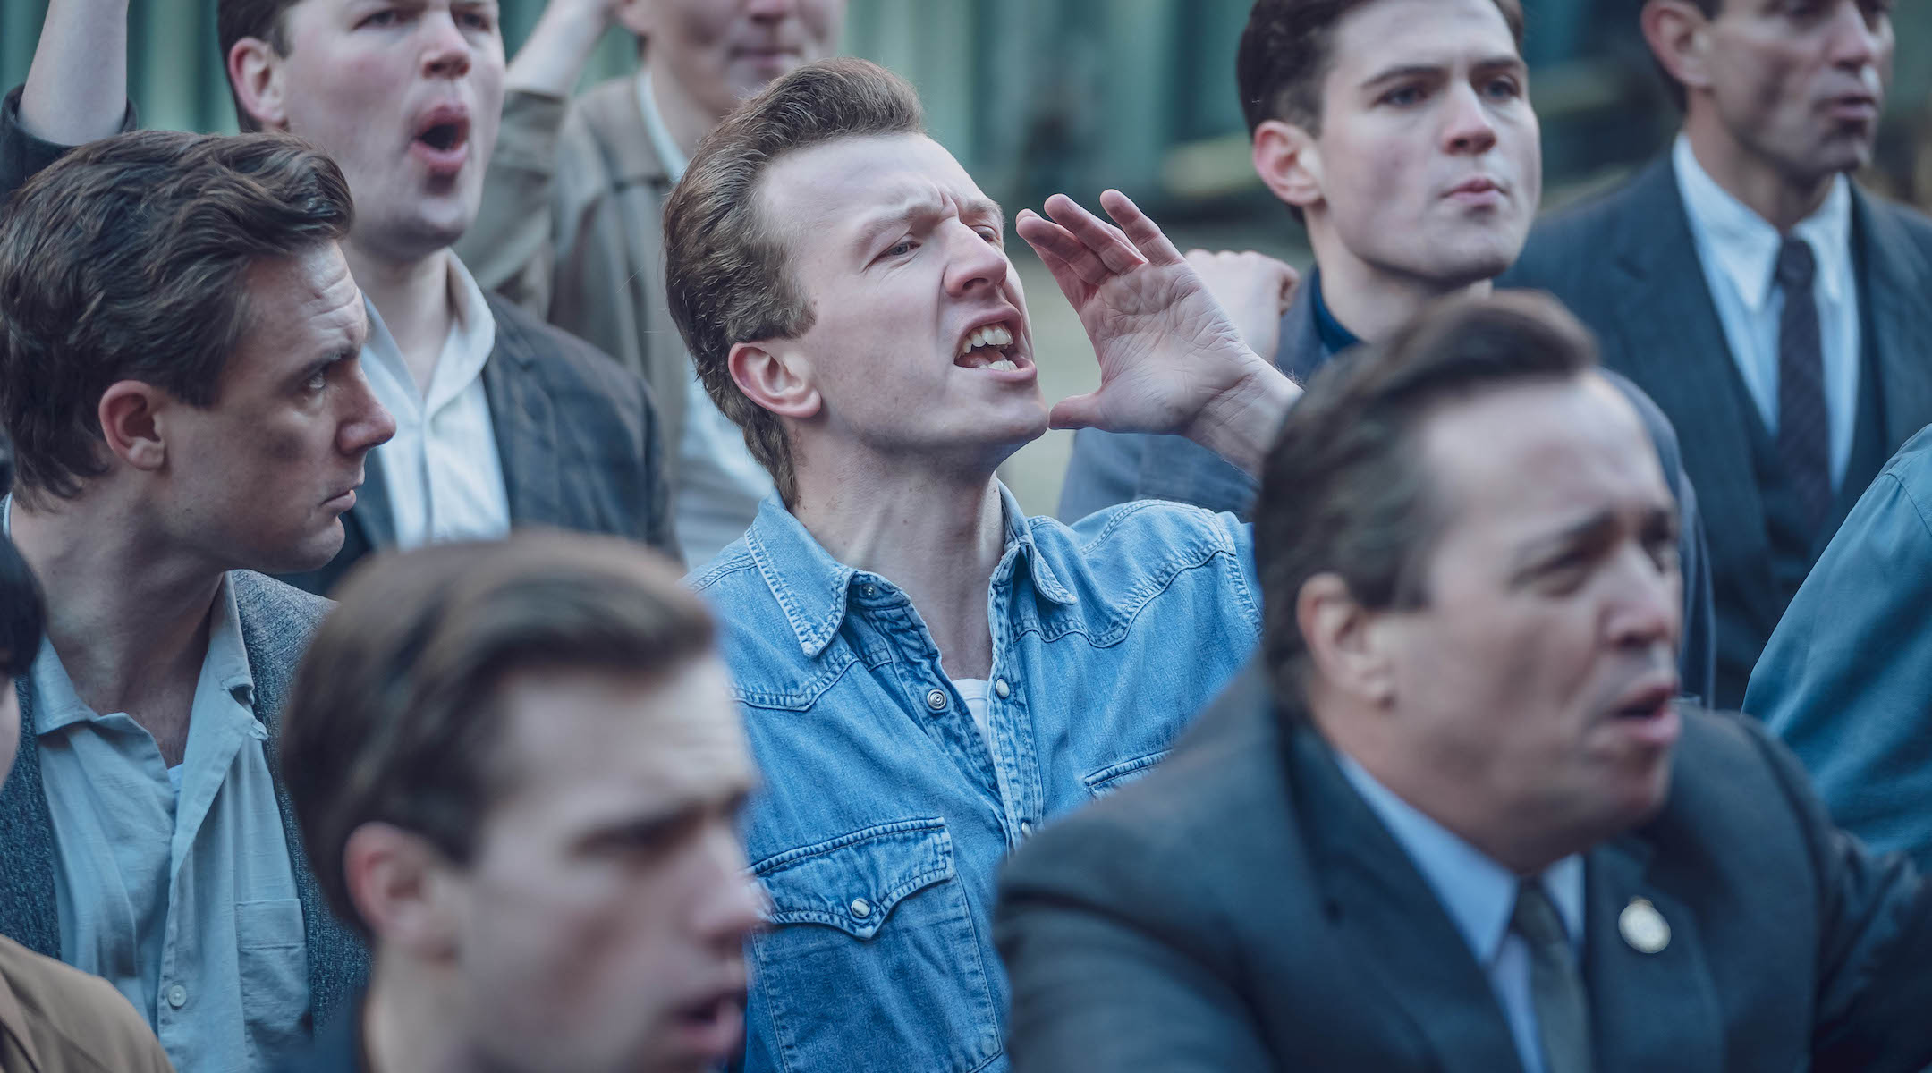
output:
[[[1296,384],[1308,382],[1335,357],[1321,345],[1321,332],[1316,328],[1318,278],[1318,270],[1308,272],[1302,286],[1294,288],[1289,311],[1281,316],[1275,369],[1287,372]],[[1663,411],[1636,384],[1617,372],[1609,372],[1609,380],[1642,417],[1644,430],[1650,432],[1650,442],[1658,448],[1663,477],[1671,494],[1677,496],[1681,521],[1677,560],[1685,583],[1685,621],[1677,666],[1683,691],[1708,701],[1716,687],[1718,641],[1714,633],[1718,614],[1712,602],[1710,552],[1704,542],[1698,498],[1679,459],[1677,432],[1671,430]],[[1082,428],[1074,434],[1074,457],[1066,465],[1066,482],[1061,486],[1059,515],[1072,525],[1097,509],[1130,500],[1175,500],[1248,517],[1254,494],[1254,477],[1186,436]]]

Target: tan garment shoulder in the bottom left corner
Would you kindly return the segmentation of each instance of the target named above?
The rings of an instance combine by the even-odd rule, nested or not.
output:
[[[0,1069],[172,1073],[160,1040],[114,984],[0,938]]]

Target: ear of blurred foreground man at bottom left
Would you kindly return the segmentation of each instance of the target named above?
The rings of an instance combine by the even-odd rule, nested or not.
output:
[[[381,942],[425,961],[456,953],[452,868],[423,836],[381,822],[355,828],[342,847],[342,878]]]

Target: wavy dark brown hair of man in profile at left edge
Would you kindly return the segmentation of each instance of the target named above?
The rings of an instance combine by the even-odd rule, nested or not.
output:
[[[288,135],[139,131],[75,149],[0,216],[0,425],[27,504],[106,473],[100,394],[213,405],[251,264],[340,241],[350,187]]]

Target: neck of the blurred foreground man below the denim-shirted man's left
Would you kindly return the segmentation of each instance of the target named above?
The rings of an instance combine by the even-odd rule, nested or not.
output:
[[[460,1017],[446,975],[388,949],[377,949],[363,998],[363,1056],[369,1073],[466,1073]]]

